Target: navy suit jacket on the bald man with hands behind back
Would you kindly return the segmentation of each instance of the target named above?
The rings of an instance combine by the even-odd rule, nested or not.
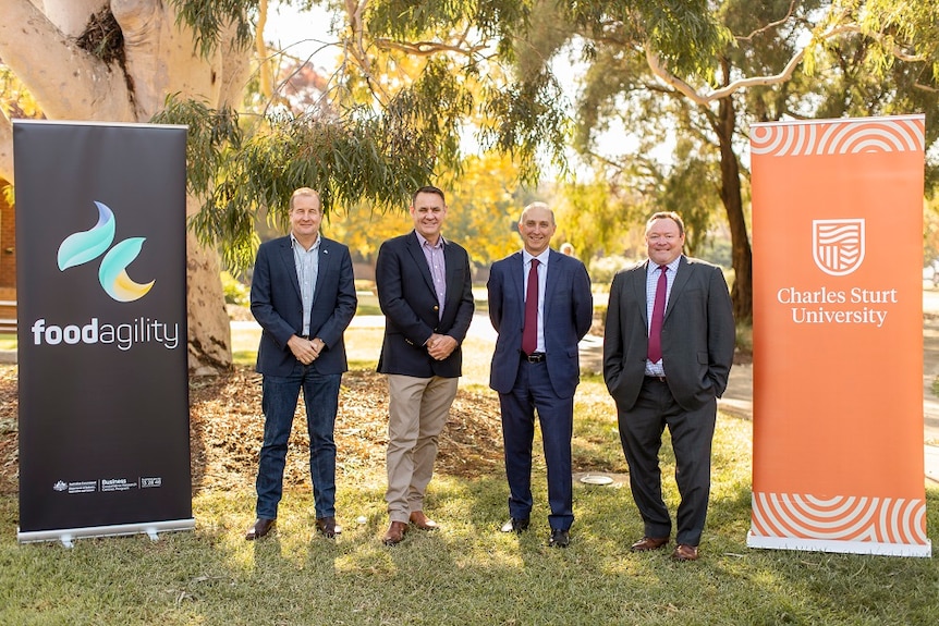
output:
[[[522,253],[492,263],[489,271],[489,319],[499,333],[489,386],[510,393],[519,373],[525,326],[525,269]],[[587,268],[553,249],[548,254],[542,311],[545,361],[559,397],[572,397],[581,381],[577,344],[590,330],[594,296]]]

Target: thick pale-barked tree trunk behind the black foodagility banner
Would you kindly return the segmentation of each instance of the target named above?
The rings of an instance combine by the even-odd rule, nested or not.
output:
[[[124,65],[105,63],[77,45],[93,16],[110,7],[124,39]],[[45,10],[45,12],[44,12]],[[223,42],[199,57],[193,32],[159,0],[0,0],[0,59],[49,119],[147,122],[169,94],[236,102],[248,51]],[[77,32],[76,32],[77,29]],[[0,115],[0,176],[13,180],[11,122]],[[187,198],[186,214],[200,202]],[[218,253],[186,238],[188,361],[193,375],[229,369],[231,331]]]

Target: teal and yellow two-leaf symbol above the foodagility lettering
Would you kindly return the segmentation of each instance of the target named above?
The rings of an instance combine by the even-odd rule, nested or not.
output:
[[[141,254],[146,238],[131,237],[111,248],[117,228],[114,212],[97,200],[95,205],[98,207],[98,223],[90,230],[65,237],[59,246],[59,270],[64,272],[69,268],[93,261],[107,250],[98,269],[98,281],[105,293],[122,303],[141,299],[156,281],[146,284],[134,282],[127,275],[127,266]]]

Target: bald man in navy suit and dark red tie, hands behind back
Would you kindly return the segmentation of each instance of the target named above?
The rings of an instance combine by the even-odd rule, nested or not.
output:
[[[499,333],[489,385],[499,392],[510,519],[503,532],[528,527],[535,410],[548,467],[548,544],[565,548],[574,521],[571,437],[581,368],[577,343],[590,330],[594,298],[587,269],[550,249],[554,213],[544,202],[519,221],[524,249],[489,272],[489,319]]]

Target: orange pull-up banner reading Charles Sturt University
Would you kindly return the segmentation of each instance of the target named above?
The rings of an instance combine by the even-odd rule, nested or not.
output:
[[[923,115],[756,124],[747,545],[931,556]]]

